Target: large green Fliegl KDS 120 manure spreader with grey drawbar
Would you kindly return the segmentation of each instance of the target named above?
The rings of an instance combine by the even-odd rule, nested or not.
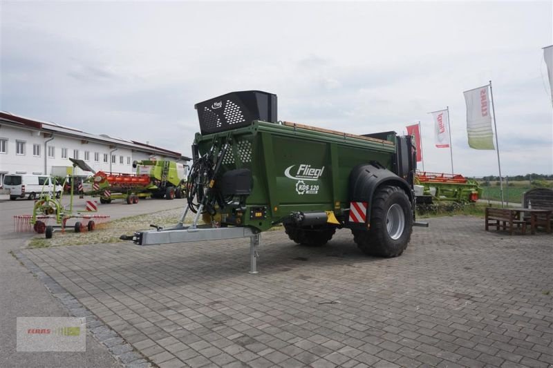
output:
[[[249,237],[252,271],[259,233],[277,224],[298,244],[321,246],[347,228],[366,254],[395,257],[406,249],[415,225],[411,136],[279,122],[277,96],[256,90],[195,108],[200,133],[180,222],[122,239],[149,245]],[[194,223],[185,225],[189,211]]]

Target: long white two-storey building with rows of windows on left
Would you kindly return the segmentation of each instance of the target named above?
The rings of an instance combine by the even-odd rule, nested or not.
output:
[[[133,173],[133,161],[142,159],[189,161],[164,148],[0,112],[0,183],[8,173],[60,175],[72,167],[70,157],[106,173]],[[77,168],[75,175],[90,173]]]

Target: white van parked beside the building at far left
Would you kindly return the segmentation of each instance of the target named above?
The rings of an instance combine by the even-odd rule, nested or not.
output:
[[[4,175],[3,188],[10,190],[10,200],[12,201],[25,197],[28,197],[29,200],[35,200],[35,198],[40,196],[43,188],[44,191],[48,191],[51,195],[56,195],[57,197],[64,190],[61,185],[57,184],[54,177],[25,174]]]

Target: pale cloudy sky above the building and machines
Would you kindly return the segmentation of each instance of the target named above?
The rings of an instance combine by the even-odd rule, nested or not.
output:
[[[0,7],[0,110],[16,115],[189,156],[194,104],[265,90],[283,121],[354,134],[420,122],[425,170],[450,172],[428,114],[449,106],[454,171],[498,175],[496,151],[468,146],[462,94],[491,80],[503,175],[553,173],[552,1]]]

